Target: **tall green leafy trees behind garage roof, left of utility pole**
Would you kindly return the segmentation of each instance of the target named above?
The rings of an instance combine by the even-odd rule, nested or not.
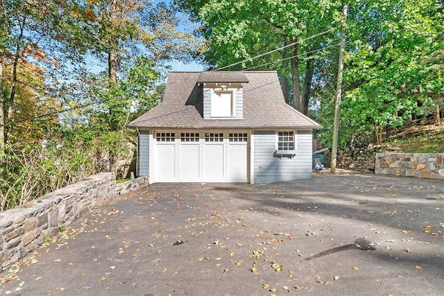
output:
[[[339,43],[337,34],[322,33],[341,24],[341,1],[184,0],[179,3],[202,23],[201,31],[210,44],[205,60],[214,67],[294,44],[233,69],[261,64],[264,66],[259,69],[278,69],[282,84],[289,83],[289,87],[283,86],[285,96],[289,98],[291,92],[293,106],[307,114],[318,51],[332,42]]]

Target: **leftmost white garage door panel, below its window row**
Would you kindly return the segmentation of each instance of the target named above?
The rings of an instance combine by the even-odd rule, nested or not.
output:
[[[156,147],[155,182],[177,182],[176,146],[162,144]]]

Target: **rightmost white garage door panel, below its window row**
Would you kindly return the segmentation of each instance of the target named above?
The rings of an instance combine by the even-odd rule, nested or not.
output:
[[[247,182],[247,146],[228,145],[227,182]]]

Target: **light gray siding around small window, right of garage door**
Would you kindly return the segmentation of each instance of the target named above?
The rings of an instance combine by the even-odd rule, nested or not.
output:
[[[296,132],[296,156],[292,159],[275,156],[275,130],[254,132],[255,183],[284,182],[311,178],[311,130]]]

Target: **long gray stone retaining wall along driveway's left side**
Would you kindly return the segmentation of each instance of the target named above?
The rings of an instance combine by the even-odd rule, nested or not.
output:
[[[147,185],[148,177],[116,185],[114,173],[99,173],[0,213],[0,273],[92,207]]]

